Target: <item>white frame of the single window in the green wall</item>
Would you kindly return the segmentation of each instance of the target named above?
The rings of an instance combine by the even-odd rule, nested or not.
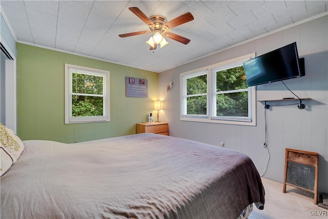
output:
[[[103,116],[72,116],[72,73],[79,71],[79,73],[102,76],[103,82],[103,97],[104,100],[104,114]],[[88,94],[83,94],[88,95]],[[92,94],[92,96],[99,96]],[[75,123],[95,123],[95,122],[110,122],[110,72],[100,69],[88,68],[83,66],[65,64],[65,124]]]

